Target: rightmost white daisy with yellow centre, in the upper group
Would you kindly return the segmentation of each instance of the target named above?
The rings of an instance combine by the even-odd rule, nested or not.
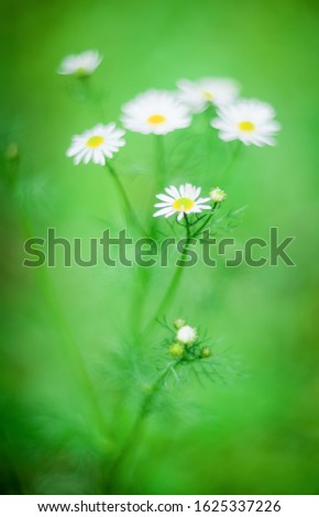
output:
[[[258,100],[239,100],[217,110],[218,119],[211,125],[219,130],[219,138],[240,140],[245,145],[275,145],[274,134],[280,124],[274,120],[275,110]]]

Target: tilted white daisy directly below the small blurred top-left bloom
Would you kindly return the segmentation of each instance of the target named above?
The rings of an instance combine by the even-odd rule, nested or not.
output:
[[[66,155],[74,157],[75,165],[81,161],[85,164],[92,161],[95,164],[105,165],[106,157],[112,158],[113,153],[125,145],[122,139],[124,134],[125,131],[117,129],[114,122],[108,125],[98,124],[82,134],[76,134]]]

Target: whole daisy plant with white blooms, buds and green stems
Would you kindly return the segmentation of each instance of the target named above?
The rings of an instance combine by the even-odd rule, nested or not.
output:
[[[81,88],[85,85],[85,88],[89,89],[88,78],[97,69],[101,61],[98,52],[88,51],[79,55],[67,56],[63,59],[57,72],[62,75],[75,77],[78,81],[77,86]],[[196,117],[198,117],[198,120],[201,117],[207,132],[216,130],[216,134],[220,140],[224,142],[238,141],[237,150],[243,147],[243,145],[256,145],[258,147],[274,145],[275,135],[280,129],[279,123],[275,120],[276,113],[274,109],[266,102],[255,99],[241,99],[239,95],[240,87],[237,81],[229,78],[216,77],[206,77],[195,81],[180,79],[177,81],[175,91],[147,90],[123,105],[119,119],[123,129],[119,129],[116,122],[108,123],[107,125],[99,123],[81,134],[73,136],[72,144],[66,154],[74,160],[75,165],[92,162],[100,166],[107,166],[119,195],[122,197],[127,221],[135,224],[140,233],[143,232],[144,235],[153,237],[156,231],[154,219],[151,228],[147,228],[145,232],[143,226],[139,223],[139,218],[136,218],[135,205],[131,204],[130,195],[127,194],[120,177],[112,164],[110,164],[110,160],[113,158],[114,154],[125,145],[125,130],[143,135],[155,135],[153,141],[157,145],[158,169],[163,173],[163,176],[167,168],[161,166],[165,165],[166,162],[165,156],[163,156],[165,147],[163,146],[164,135],[190,128],[193,119]],[[202,116],[201,113],[205,111],[206,113]],[[191,131],[188,131],[188,141],[193,145],[193,140],[190,140]],[[235,155],[237,153],[233,154],[233,156]],[[230,162],[232,163],[232,160]],[[229,167],[227,170],[229,170]],[[157,187],[154,194],[157,191],[157,188],[160,190],[161,186],[165,185],[164,182],[164,177],[161,177],[161,182],[156,182]],[[227,227],[231,228],[231,224],[233,224],[232,219],[235,219],[237,212],[229,212],[226,218],[213,219],[216,211],[227,199],[227,193],[218,186],[211,186],[206,196],[201,194],[201,190],[200,186],[195,186],[190,183],[183,183],[179,186],[170,184],[164,189],[164,193],[155,195],[156,202],[154,207],[156,210],[153,217],[163,217],[165,219],[174,217],[176,222],[184,227],[186,239],[184,240],[182,260],[179,263],[177,262],[178,267],[175,268],[169,286],[162,300],[160,300],[157,310],[150,319],[150,322],[140,332],[141,315],[143,314],[141,309],[143,309],[143,302],[146,301],[146,293],[150,289],[150,279],[152,278],[150,274],[143,277],[143,296],[141,297],[141,292],[138,289],[138,298],[133,299],[132,329],[134,330],[133,337],[135,340],[133,344],[139,343],[142,336],[146,336],[145,331],[147,330],[148,332],[155,321],[161,321],[160,318],[163,317],[168,304],[174,299],[176,287],[178,282],[180,282],[183,266],[188,265],[187,257],[190,254],[193,240],[200,234],[207,235],[207,232],[208,235],[212,231],[216,233],[219,219],[223,221],[229,218],[230,222],[227,220]],[[207,238],[205,239],[207,240]],[[135,307],[138,307],[138,310],[135,310]],[[191,327],[183,318],[175,320],[174,328],[169,328],[165,319],[164,323],[170,331],[170,337],[164,343],[165,362],[167,364],[145,395],[131,435],[129,435],[119,457],[114,460],[111,469],[112,477],[124,454],[139,437],[141,422],[150,413],[154,397],[164,384],[164,381],[172,372],[175,378],[178,378],[175,369],[187,365],[187,370],[190,373],[193,370],[196,375],[199,372],[209,377],[218,374],[217,367],[220,364],[218,352],[215,349],[212,355],[207,340],[200,336],[196,327]]]

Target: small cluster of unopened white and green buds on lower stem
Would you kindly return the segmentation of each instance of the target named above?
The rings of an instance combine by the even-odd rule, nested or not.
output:
[[[172,358],[185,362],[210,358],[211,350],[209,346],[202,345],[195,327],[187,324],[184,319],[177,319],[174,327],[176,330],[175,340],[168,348]]]

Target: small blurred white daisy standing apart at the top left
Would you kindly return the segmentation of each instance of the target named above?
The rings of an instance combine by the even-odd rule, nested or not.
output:
[[[99,66],[102,58],[97,51],[87,51],[82,54],[66,56],[57,70],[62,75],[90,76]]]

